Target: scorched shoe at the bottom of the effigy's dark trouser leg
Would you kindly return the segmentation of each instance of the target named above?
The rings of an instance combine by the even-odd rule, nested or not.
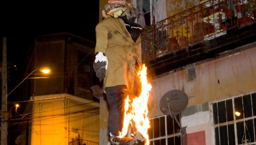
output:
[[[132,137],[119,138],[118,136],[113,135],[112,137],[110,137],[110,141],[113,145],[131,145],[136,142],[136,139]]]

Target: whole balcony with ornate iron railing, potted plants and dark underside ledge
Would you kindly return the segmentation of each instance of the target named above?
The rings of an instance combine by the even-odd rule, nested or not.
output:
[[[167,64],[172,67],[166,72],[254,42],[255,7],[255,0],[204,0],[146,26],[141,34],[143,63],[160,74]]]

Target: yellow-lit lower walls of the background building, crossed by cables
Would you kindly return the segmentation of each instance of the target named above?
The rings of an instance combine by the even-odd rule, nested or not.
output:
[[[32,99],[39,101],[33,104],[30,144],[64,145],[86,140],[96,145],[99,142],[99,103],[70,94]]]

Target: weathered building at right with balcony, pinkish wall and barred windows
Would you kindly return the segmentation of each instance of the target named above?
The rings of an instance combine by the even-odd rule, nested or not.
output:
[[[101,8],[104,2],[100,2]],[[155,2],[150,1],[152,4]],[[255,18],[245,13],[251,19],[242,23],[240,18],[236,18],[245,14],[235,10],[235,20],[229,21],[227,11],[220,11],[224,2],[232,3],[229,0],[214,3],[186,1],[191,5],[184,9],[181,7],[183,2],[166,0],[168,18],[145,28],[142,34],[143,61],[148,67],[148,80],[152,85],[148,105],[150,144],[255,144]],[[209,4],[218,8],[216,13],[209,15],[211,7],[205,7]],[[228,7],[234,9],[235,3]],[[207,34],[200,30],[202,38],[199,39],[199,33],[194,32],[198,23],[203,26],[201,21],[205,20],[205,16],[202,17],[205,13],[201,12],[204,11],[207,11],[209,19],[223,19],[225,28],[220,26],[211,34],[208,29]],[[194,15],[197,16],[195,19]],[[183,20],[186,23],[183,24]],[[206,19],[206,23],[210,21]],[[184,31],[180,35],[172,32],[184,26],[187,28],[180,29]],[[187,39],[186,45],[183,45],[184,40],[178,39],[183,35]],[[162,96],[175,89],[185,92],[189,99],[187,108],[177,115],[181,126],[186,128],[185,136],[181,136],[174,119],[164,115],[159,108]],[[100,144],[107,144],[108,106],[104,98],[100,100]],[[241,115],[237,116],[235,112]]]

